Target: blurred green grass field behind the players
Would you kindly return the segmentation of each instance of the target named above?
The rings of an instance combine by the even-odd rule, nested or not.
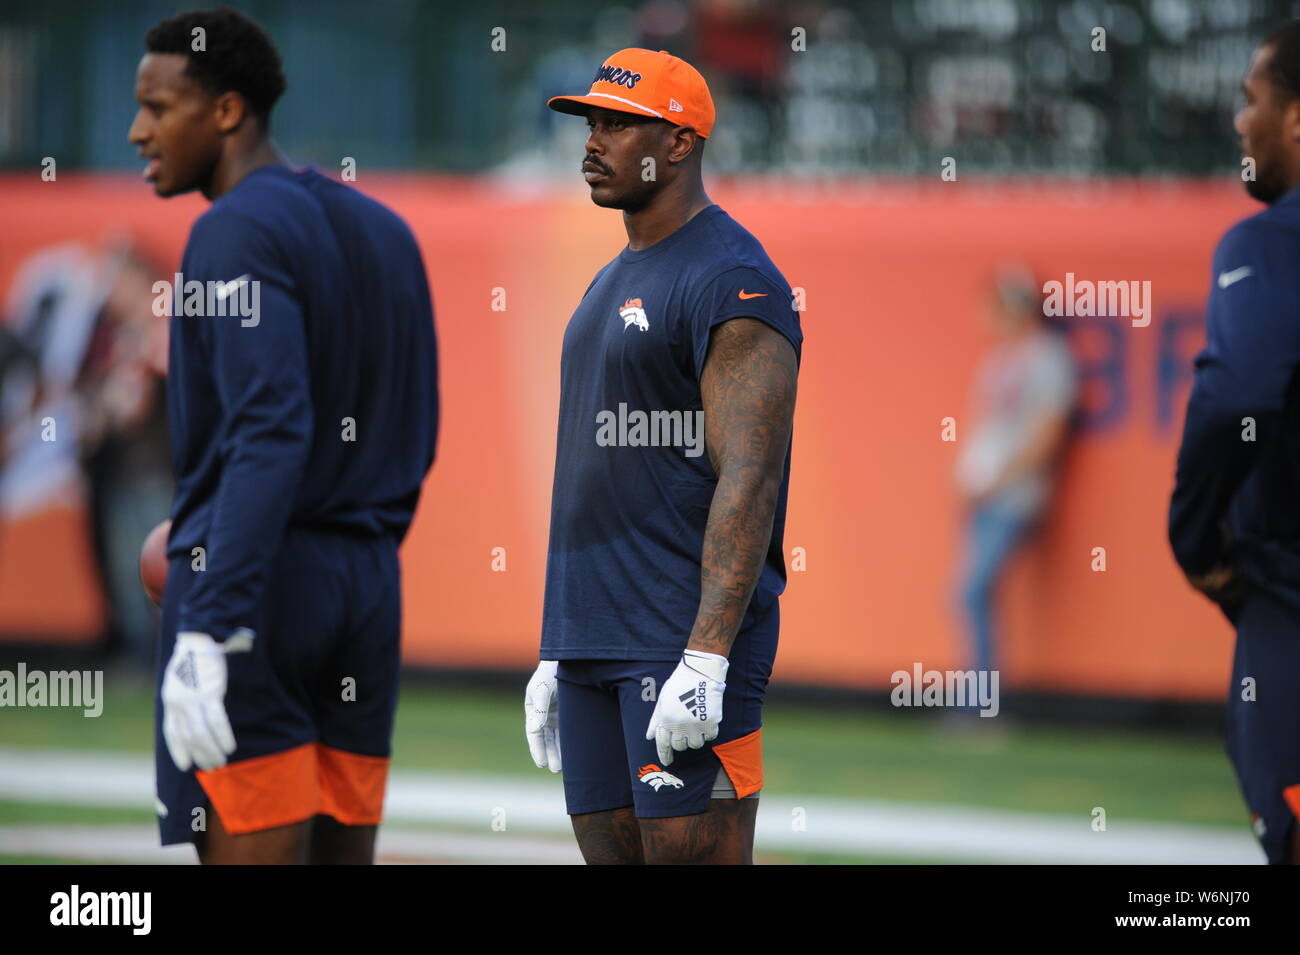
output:
[[[545,776],[523,738],[521,693],[408,685],[402,691],[394,769]],[[0,746],[148,752],[148,686],[109,676],[98,719],[81,711],[8,711]],[[764,713],[764,795],[887,800],[1070,813],[1105,807],[1112,819],[1242,826],[1245,811],[1213,735],[1054,729],[980,721],[954,732],[931,712],[862,715],[792,704]],[[91,808],[0,800],[0,826],[151,824],[147,807]],[[864,856],[768,852],[768,863],[874,861]],[[0,863],[53,861],[5,855]],[[889,861],[910,861],[890,859]],[[927,859],[927,861],[933,861]]]

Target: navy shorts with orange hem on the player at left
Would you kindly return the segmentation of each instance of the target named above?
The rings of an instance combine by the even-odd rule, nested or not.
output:
[[[162,672],[194,579],[168,568],[155,696],[162,845],[192,842],[207,804],[234,834],[333,816],[377,825],[387,785],[400,664],[396,542],[291,528],[268,577],[256,637],[226,655],[235,751],[213,770],[181,772],[162,741]]]

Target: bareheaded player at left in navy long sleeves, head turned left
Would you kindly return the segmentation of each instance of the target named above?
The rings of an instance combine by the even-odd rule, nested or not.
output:
[[[285,79],[256,23],[181,14],[146,45],[130,131],[144,175],[212,200],[170,330],[162,842],[194,841],[205,863],[372,861],[396,548],[438,424],[420,251],[385,207],[276,149]]]

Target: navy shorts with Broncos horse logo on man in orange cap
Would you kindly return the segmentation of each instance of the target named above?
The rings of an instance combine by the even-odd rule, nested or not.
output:
[[[708,811],[719,768],[733,798],[763,787],[763,698],[776,659],[779,611],[736,638],[728,656],[718,739],[673,752],[659,765],[646,728],[655,691],[677,661],[560,660],[559,721],[564,802],[569,815],[634,806],[642,819]]]

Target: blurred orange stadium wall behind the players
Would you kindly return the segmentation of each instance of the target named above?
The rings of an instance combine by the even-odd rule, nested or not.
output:
[[[412,225],[437,308],[443,424],[403,547],[406,657],[448,667],[536,659],[560,337],[624,243],[581,182],[520,192],[490,179],[358,183]],[[1004,591],[1009,686],[1217,699],[1231,631],[1188,591],[1165,543],[1174,453],[1202,340],[1216,240],[1253,210],[1231,185],[719,185],[714,197],[806,292],[776,678],[885,689],[963,665],[954,617],[953,464],[988,344],[994,269],[1152,283],[1145,327],[1078,318],[1087,427],[1048,524]],[[169,266],[205,204],[134,177],[0,177],[0,290],[31,252],[129,230]],[[169,275],[169,273],[168,273]],[[506,309],[493,311],[494,290]],[[941,421],[958,422],[958,443]],[[161,515],[160,515],[161,517]],[[1105,572],[1092,569],[1093,548]],[[504,548],[506,569],[493,569]],[[81,642],[103,600],[75,508],[0,529],[0,633]]]

